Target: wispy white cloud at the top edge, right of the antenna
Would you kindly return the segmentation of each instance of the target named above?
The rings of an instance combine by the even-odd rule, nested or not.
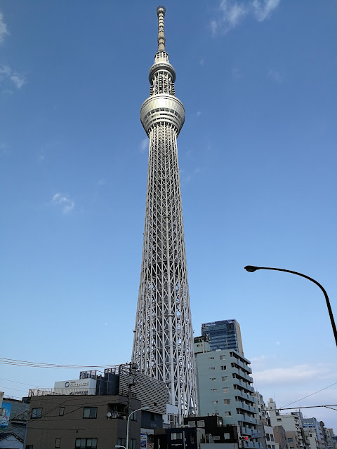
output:
[[[218,33],[226,34],[230,29],[239,25],[248,15],[263,22],[270,17],[272,11],[277,8],[280,0],[250,0],[235,1],[221,0],[219,5],[218,18],[211,20],[211,33],[215,36]]]

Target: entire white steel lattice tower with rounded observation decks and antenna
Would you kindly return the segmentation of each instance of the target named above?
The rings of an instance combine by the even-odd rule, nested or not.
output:
[[[164,6],[157,8],[157,15],[158,51],[149,73],[150,97],[140,109],[150,147],[132,361],[143,373],[166,382],[181,420],[197,413],[177,150],[185,109],[176,98],[176,72],[165,51]]]

